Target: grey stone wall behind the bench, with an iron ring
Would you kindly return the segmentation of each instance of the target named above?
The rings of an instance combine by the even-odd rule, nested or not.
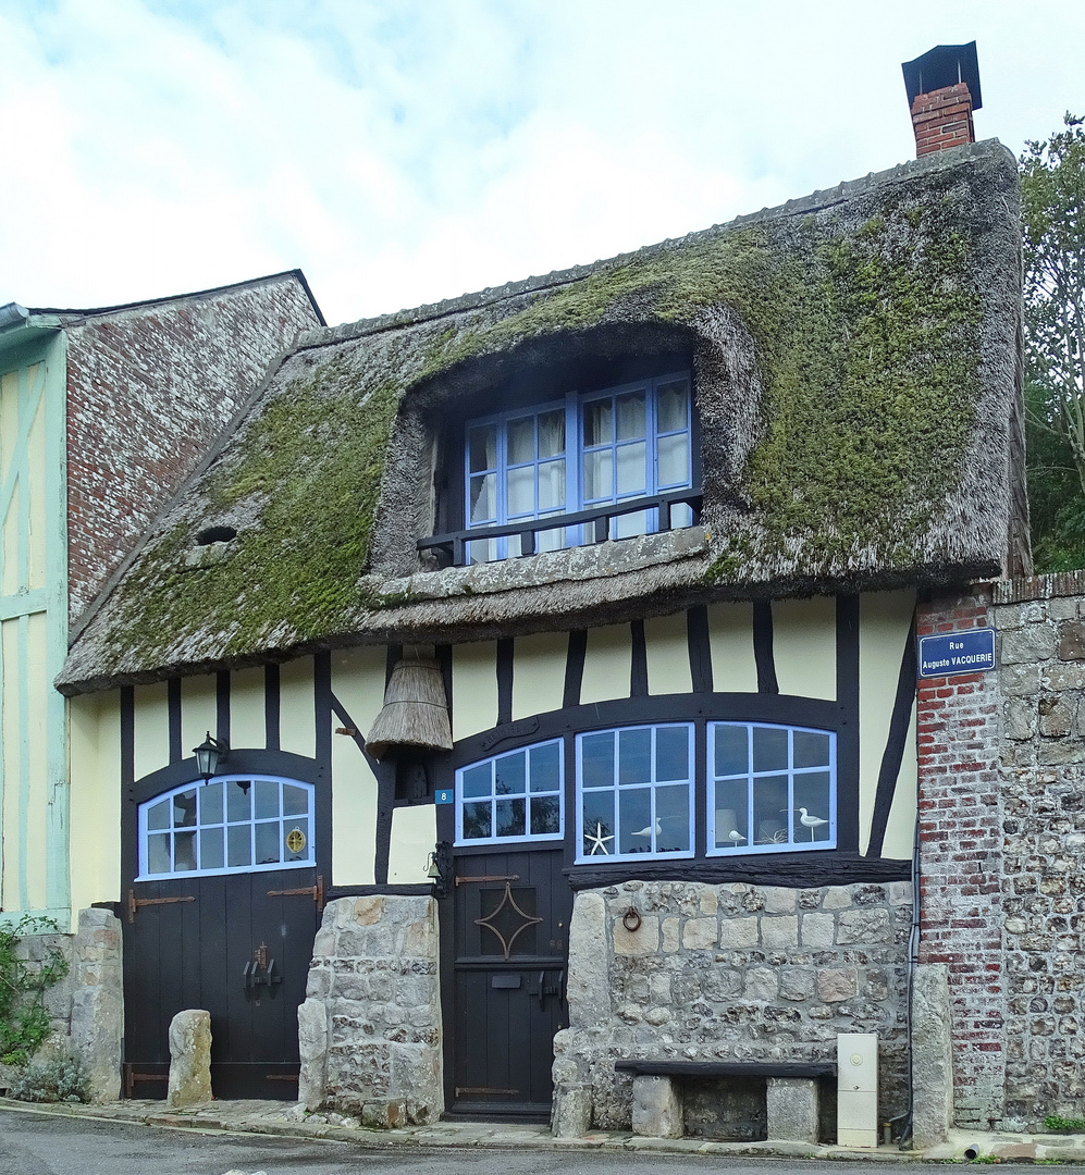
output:
[[[578,893],[569,1028],[555,1038],[555,1130],[629,1128],[615,1061],[835,1061],[880,1042],[884,1117],[907,1104],[911,885],[788,889],[628,881]],[[634,907],[636,931],[622,922]],[[691,1123],[696,1133],[697,1123]]]

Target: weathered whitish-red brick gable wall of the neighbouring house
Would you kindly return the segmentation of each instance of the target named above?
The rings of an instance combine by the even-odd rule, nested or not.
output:
[[[73,622],[270,361],[317,324],[292,274],[66,322]]]

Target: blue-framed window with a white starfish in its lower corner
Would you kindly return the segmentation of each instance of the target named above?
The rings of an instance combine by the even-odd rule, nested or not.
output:
[[[694,855],[694,725],[576,737],[577,861]]]

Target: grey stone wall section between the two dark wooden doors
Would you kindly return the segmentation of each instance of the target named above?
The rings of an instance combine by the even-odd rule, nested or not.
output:
[[[299,1009],[307,1109],[379,1128],[440,1117],[437,971],[433,898],[340,898],[324,907]]]

